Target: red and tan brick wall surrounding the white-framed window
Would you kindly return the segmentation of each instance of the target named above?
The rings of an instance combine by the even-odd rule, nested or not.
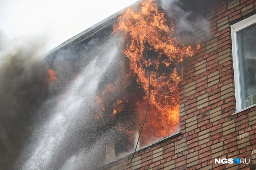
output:
[[[132,169],[256,169],[256,107],[235,115],[230,24],[256,13],[256,0],[220,0],[205,18],[210,33],[198,54],[185,61],[180,83],[181,132],[135,154]],[[132,155],[104,169],[125,169]],[[249,158],[250,164],[214,164],[214,158]]]

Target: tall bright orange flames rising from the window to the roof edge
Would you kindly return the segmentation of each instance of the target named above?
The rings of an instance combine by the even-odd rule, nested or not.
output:
[[[125,33],[128,43],[123,53],[129,59],[130,69],[136,76],[137,83],[144,89],[144,101],[137,102],[136,109],[140,127],[144,120],[148,97],[144,41],[146,40],[147,50],[158,54],[149,56],[150,109],[142,133],[144,140],[147,136],[166,137],[180,125],[178,84],[181,77],[175,66],[185,57],[193,56],[199,46],[193,49],[191,46],[179,44],[172,36],[174,29],[174,26],[169,28],[164,12],[158,10],[153,0],[143,1],[139,12],[133,9],[126,10],[113,27],[113,33]],[[116,113],[117,110],[114,109],[114,114]]]

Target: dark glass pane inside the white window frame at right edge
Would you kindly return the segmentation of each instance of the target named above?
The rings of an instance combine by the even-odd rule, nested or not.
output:
[[[256,24],[237,34],[242,108],[256,104]]]

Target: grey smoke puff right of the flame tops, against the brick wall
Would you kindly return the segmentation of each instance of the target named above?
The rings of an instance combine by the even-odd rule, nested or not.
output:
[[[179,42],[193,43],[202,40],[197,34],[210,32],[210,22],[204,19],[201,11],[184,10],[185,4],[180,0],[160,0],[160,6],[175,26],[174,36]]]

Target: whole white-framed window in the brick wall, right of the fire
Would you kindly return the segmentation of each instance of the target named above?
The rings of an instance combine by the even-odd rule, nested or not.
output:
[[[256,105],[256,15],[231,25],[236,111]]]

